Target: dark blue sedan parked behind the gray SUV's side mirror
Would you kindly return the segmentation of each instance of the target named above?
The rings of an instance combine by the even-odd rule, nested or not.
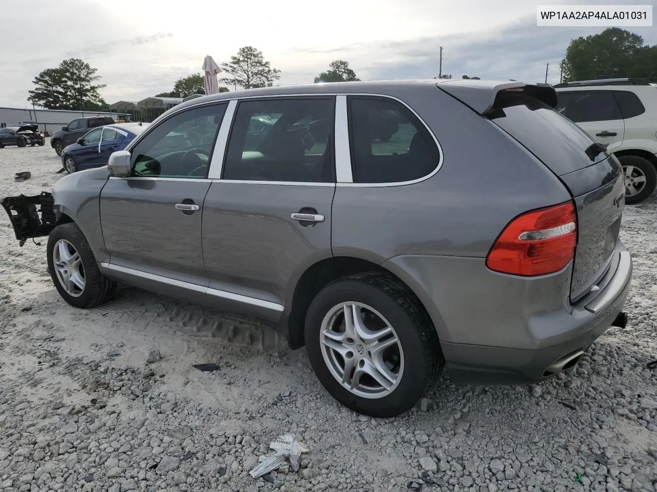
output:
[[[69,174],[107,165],[110,154],[125,146],[148,128],[150,123],[114,123],[95,128],[62,150],[62,164]]]

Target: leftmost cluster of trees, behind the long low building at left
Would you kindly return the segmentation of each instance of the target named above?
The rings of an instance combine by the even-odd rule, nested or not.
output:
[[[98,111],[107,108],[99,89],[104,84],[97,68],[79,58],[63,60],[57,68],[47,68],[32,81],[28,101],[48,110]]]

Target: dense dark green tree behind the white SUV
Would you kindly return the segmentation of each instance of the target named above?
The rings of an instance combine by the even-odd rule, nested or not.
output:
[[[657,45],[620,28],[570,41],[562,65],[563,80],[657,76]]]

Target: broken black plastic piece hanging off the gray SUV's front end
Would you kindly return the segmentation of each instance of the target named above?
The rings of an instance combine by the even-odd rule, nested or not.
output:
[[[53,194],[41,192],[34,196],[9,196],[2,199],[20,246],[35,237],[48,236],[57,225]],[[36,243],[36,241],[34,241]]]

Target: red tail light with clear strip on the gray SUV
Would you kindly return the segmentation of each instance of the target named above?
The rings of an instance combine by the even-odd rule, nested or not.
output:
[[[574,258],[576,243],[575,207],[568,201],[514,218],[489,251],[486,266],[525,277],[552,274]]]

